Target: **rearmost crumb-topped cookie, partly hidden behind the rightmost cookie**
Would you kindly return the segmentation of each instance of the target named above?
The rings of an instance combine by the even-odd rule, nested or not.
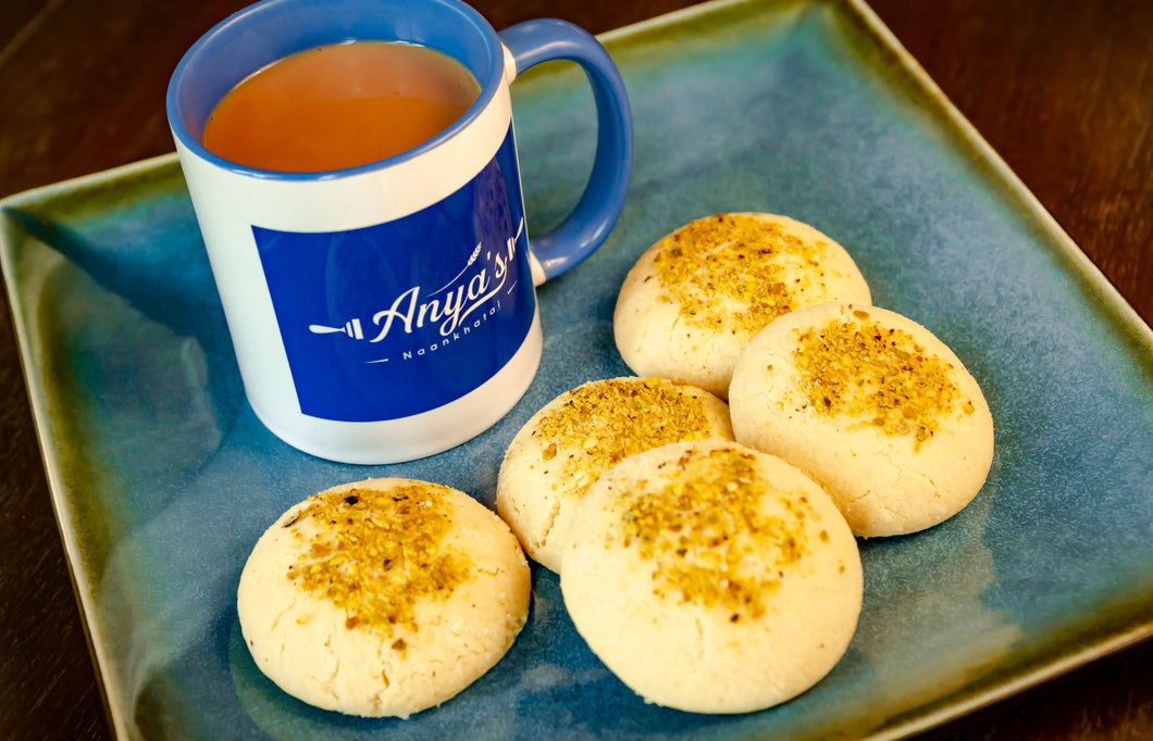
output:
[[[837,300],[872,300],[843,247],[787,217],[719,213],[641,255],[620,287],[613,333],[633,372],[726,399],[737,356],[764,325]]]

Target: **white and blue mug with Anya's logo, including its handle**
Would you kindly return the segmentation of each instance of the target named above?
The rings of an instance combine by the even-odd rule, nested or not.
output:
[[[213,107],[251,73],[353,39],[446,53],[480,97],[423,144],[348,169],[261,171],[203,146]],[[593,88],[596,153],[572,213],[529,240],[508,86],[557,59]],[[593,36],[548,18],[497,33],[457,0],[259,2],[196,41],[166,103],[253,410],[347,463],[439,453],[507,414],[540,364],[536,286],[604,241],[632,171],[624,83]]]

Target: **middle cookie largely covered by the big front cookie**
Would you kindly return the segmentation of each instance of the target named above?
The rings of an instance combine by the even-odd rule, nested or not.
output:
[[[621,459],[668,443],[733,439],[713,394],[662,378],[610,378],[567,391],[513,438],[497,477],[497,512],[525,551],[560,572],[565,532],[581,497]]]

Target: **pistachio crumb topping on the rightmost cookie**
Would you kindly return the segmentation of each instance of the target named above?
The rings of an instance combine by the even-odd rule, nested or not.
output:
[[[871,320],[862,309],[794,335],[797,387],[817,414],[912,436],[919,451],[958,404],[964,414],[975,410],[954,383],[951,363],[926,353],[907,332]]]

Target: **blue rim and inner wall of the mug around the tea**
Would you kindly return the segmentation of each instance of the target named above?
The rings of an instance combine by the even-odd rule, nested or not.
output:
[[[229,171],[239,175],[247,175],[250,177],[257,177],[262,180],[280,180],[280,181],[299,181],[299,182],[334,180],[338,177],[348,177],[352,175],[359,175],[363,173],[386,169],[395,165],[399,165],[401,162],[415,159],[436,149],[444,142],[457,136],[457,134],[467,128],[469,124],[472,124],[473,121],[475,121],[481,115],[481,113],[485,108],[488,108],[488,106],[492,103],[492,99],[496,97],[497,91],[499,90],[500,84],[504,80],[504,46],[500,43],[500,39],[497,36],[496,31],[484,18],[484,16],[482,16],[478,12],[476,12],[474,8],[464,2],[459,2],[457,0],[420,0],[419,3],[413,2],[413,0],[402,0],[402,2],[405,5],[405,12],[406,16],[408,16],[408,20],[410,20],[414,14],[419,13],[425,13],[425,14],[436,13],[442,15],[444,15],[444,12],[454,13],[460,18],[460,22],[462,24],[468,24],[476,32],[478,32],[480,40],[483,44],[487,54],[487,61],[489,63],[489,68],[487,70],[487,74],[483,75],[482,78],[482,75],[478,74],[473,66],[468,65],[465,60],[461,60],[459,54],[453,53],[453,50],[442,48],[440,46],[430,45],[431,48],[436,48],[437,51],[450,54],[458,61],[465,63],[466,67],[469,68],[469,71],[472,71],[473,75],[477,78],[477,82],[481,85],[481,93],[477,97],[476,101],[473,103],[473,105],[464,113],[464,115],[461,115],[460,119],[458,119],[452,126],[450,126],[444,131],[440,131],[436,136],[425,139],[424,142],[414,146],[413,149],[406,150],[404,152],[400,152],[398,154],[394,154],[385,159],[368,162],[366,165],[357,165],[355,167],[346,167],[341,169],[330,169],[330,171],[318,171],[318,172],[284,172],[284,171],[261,169],[257,167],[249,167],[247,165],[234,162],[232,160],[225,159],[209,151],[204,146],[204,144],[201,143],[199,137],[194,135],[189,130],[189,127],[186,123],[188,116],[191,115],[191,113],[187,111],[188,105],[182,97],[182,94],[186,92],[184,85],[190,84],[188,81],[189,68],[195,66],[198,61],[202,61],[201,58],[203,54],[211,54],[213,50],[219,48],[220,45],[227,45],[229,39],[235,39],[235,37],[243,33],[246,29],[250,29],[251,24],[255,23],[254,16],[257,16],[259,14],[272,13],[278,9],[281,9],[282,7],[284,9],[289,10],[293,8],[295,9],[306,7],[315,8],[318,6],[324,6],[329,12],[333,12],[332,9],[333,3],[331,2],[331,0],[327,1],[262,0],[261,2],[254,3],[251,6],[248,6],[247,8],[238,10],[236,13],[228,16],[224,21],[217,23],[203,36],[201,36],[193,44],[193,46],[190,46],[188,51],[184,52],[183,56],[181,56],[175,69],[173,70],[172,78],[168,82],[168,89],[165,97],[165,107],[168,118],[168,126],[172,129],[173,136],[180,142],[180,144],[182,144],[187,150],[193,152],[196,157],[221,169]],[[368,0],[368,2],[366,2],[364,0],[349,0],[349,2],[346,5],[367,6],[370,3],[380,5],[378,0]],[[415,12],[414,8],[416,9]],[[412,38],[395,38],[394,36],[392,38],[384,38],[379,33],[368,33],[364,36],[334,35],[331,40],[323,43],[336,44],[349,40],[399,40],[399,41],[414,43],[414,39]],[[304,51],[306,48],[312,48],[317,45],[318,44],[303,44],[299,48],[295,48],[294,51]],[[282,59],[286,55],[287,53],[281,54],[280,56],[269,60],[266,63],[277,61],[277,59]],[[259,68],[261,67],[256,67],[255,69],[244,70],[243,74],[239,76],[236,82],[240,82],[240,80],[243,80],[248,75],[251,75]],[[217,103],[219,103],[219,97],[217,97],[211,107],[214,107]],[[201,126],[203,127],[203,122]]]

